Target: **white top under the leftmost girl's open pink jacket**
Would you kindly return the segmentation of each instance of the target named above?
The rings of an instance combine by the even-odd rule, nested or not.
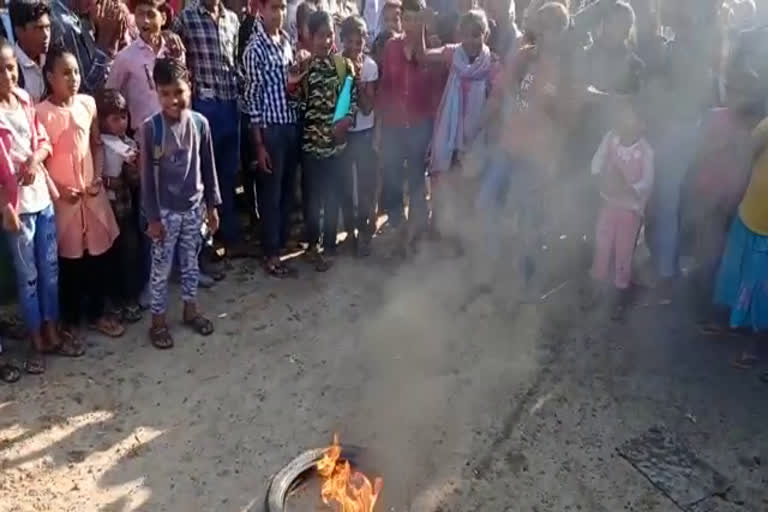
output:
[[[5,124],[11,131],[13,139],[9,148],[13,173],[18,174],[23,162],[26,162],[32,154],[32,130],[24,107],[19,104],[13,110],[0,109]],[[31,185],[19,186],[19,213],[38,213],[45,210],[51,204],[51,195],[48,192],[48,183],[41,172],[35,174],[35,181]]]

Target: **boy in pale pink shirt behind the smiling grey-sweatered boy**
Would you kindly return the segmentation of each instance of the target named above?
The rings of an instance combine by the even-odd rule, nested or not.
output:
[[[149,117],[160,112],[152,70],[155,59],[175,57],[163,40],[166,22],[165,0],[136,0],[133,16],[139,38],[126,46],[112,64],[105,88],[115,89],[125,97],[131,113],[131,129],[138,130]]]

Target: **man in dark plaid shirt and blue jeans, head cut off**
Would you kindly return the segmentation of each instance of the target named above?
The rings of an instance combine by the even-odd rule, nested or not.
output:
[[[216,171],[221,189],[221,238],[228,255],[237,255],[240,228],[235,213],[235,181],[240,159],[238,66],[235,63],[240,22],[221,0],[201,0],[173,20],[187,49],[192,75],[192,109],[211,125]]]

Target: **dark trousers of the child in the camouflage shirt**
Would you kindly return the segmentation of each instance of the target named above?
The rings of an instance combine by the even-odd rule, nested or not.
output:
[[[340,191],[344,186],[344,169],[339,154],[328,158],[304,155],[301,169],[304,173],[307,241],[310,247],[320,244],[325,249],[336,247],[339,225]]]

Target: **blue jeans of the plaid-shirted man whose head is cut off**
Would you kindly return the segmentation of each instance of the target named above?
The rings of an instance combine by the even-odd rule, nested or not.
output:
[[[235,211],[235,185],[240,166],[240,110],[237,100],[194,98],[192,109],[208,119],[213,137],[213,154],[221,191],[221,238],[225,243],[240,239]]]

